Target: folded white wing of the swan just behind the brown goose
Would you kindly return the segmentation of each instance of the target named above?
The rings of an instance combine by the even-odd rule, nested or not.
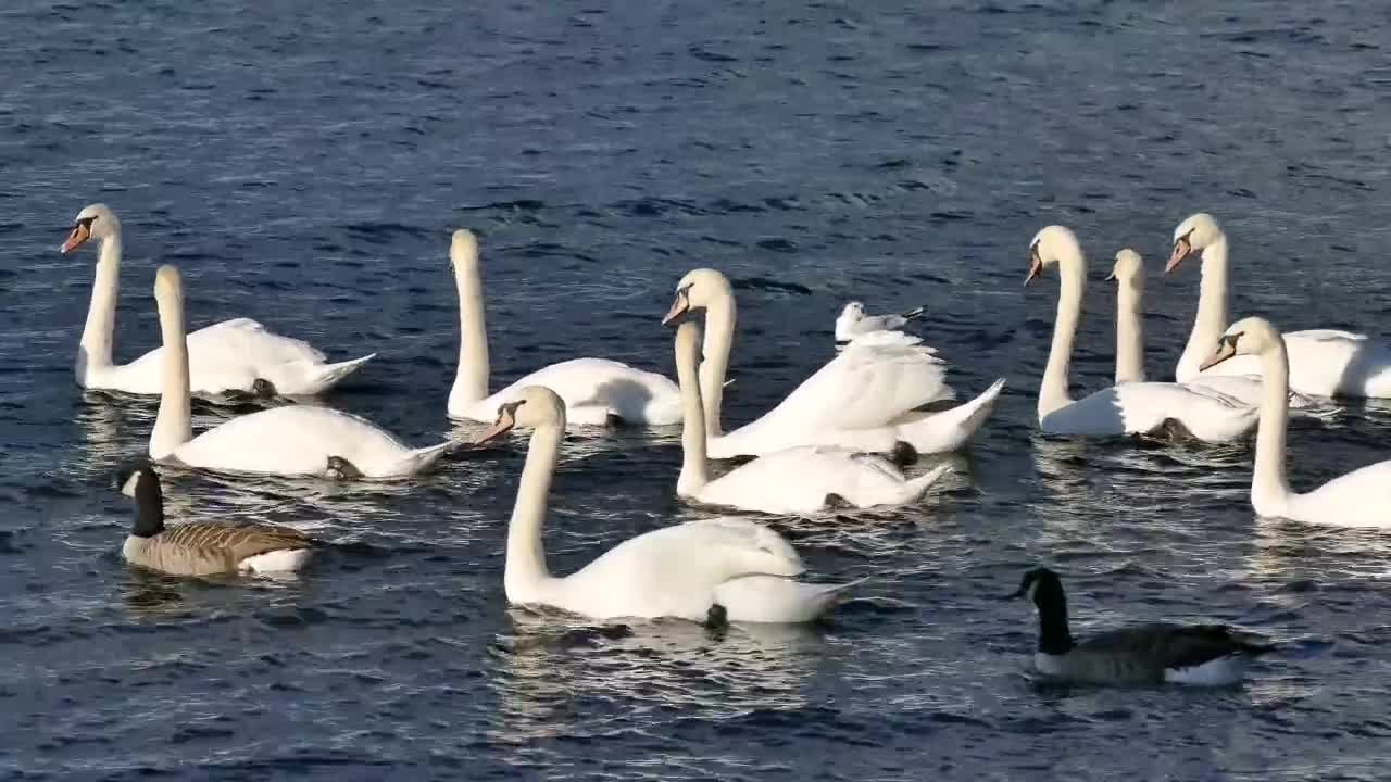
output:
[[[401,474],[413,451],[371,422],[331,408],[287,405],[235,417],[174,451],[185,465],[217,470],[324,474],[328,456],[369,477]]]

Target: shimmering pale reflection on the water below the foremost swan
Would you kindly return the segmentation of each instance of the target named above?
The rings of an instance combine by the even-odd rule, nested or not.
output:
[[[509,608],[513,633],[494,644],[498,721],[490,739],[534,739],[605,732],[604,717],[797,710],[815,675],[819,633],[805,625],[730,625],[684,621],[595,623],[558,612]],[[605,707],[576,708],[600,701]]]

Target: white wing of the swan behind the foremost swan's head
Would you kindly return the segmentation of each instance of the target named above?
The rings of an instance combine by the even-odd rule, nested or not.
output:
[[[527,385],[545,385],[559,394],[570,423],[598,426],[606,423],[609,415],[654,426],[682,420],[682,392],[670,378],[626,363],[590,358],[541,367],[467,410],[451,410],[451,415],[491,422],[498,415],[498,406]]]

